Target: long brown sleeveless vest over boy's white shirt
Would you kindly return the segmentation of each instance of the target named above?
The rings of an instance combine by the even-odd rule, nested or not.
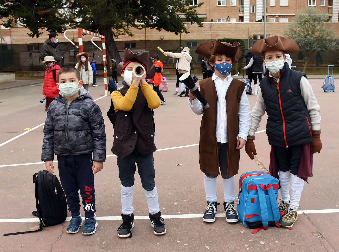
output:
[[[219,174],[219,159],[217,146],[217,110],[218,95],[212,78],[199,82],[200,92],[205,97],[210,108],[204,109],[200,126],[199,162],[200,170],[205,173]],[[245,83],[233,79],[225,96],[227,115],[227,177],[238,173],[240,150],[237,146],[239,134],[239,102],[244,91]]]

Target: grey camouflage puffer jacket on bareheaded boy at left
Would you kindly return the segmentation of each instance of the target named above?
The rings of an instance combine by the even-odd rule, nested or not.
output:
[[[58,95],[48,106],[41,160],[56,155],[81,155],[93,152],[93,160],[106,159],[105,125],[99,106],[81,89],[78,98],[67,106]]]

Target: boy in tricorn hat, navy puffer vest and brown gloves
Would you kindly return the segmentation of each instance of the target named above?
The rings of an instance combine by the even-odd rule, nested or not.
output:
[[[257,154],[254,134],[266,110],[266,134],[271,144],[270,172],[280,181],[279,212],[283,215],[280,225],[287,228],[298,218],[304,181],[312,176],[313,154],[320,153],[322,147],[320,108],[311,85],[305,73],[291,70],[286,62],[285,54],[298,51],[294,40],[282,36],[264,38],[253,45],[252,53],[264,56],[267,70],[251,113],[252,125],[245,146],[253,159]]]

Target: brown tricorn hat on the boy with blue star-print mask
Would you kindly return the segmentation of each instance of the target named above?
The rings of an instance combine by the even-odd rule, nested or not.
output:
[[[198,45],[195,52],[203,57],[210,57],[214,54],[225,54],[231,57],[235,57],[236,60],[241,57],[240,43],[234,42],[233,45],[226,42],[220,42],[219,40],[206,41]]]

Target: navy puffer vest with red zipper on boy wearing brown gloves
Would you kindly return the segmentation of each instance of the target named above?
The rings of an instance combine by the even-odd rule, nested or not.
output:
[[[312,142],[311,118],[300,91],[305,73],[291,70],[287,63],[280,69],[277,83],[269,71],[260,82],[268,115],[266,134],[272,146],[289,147]]]

